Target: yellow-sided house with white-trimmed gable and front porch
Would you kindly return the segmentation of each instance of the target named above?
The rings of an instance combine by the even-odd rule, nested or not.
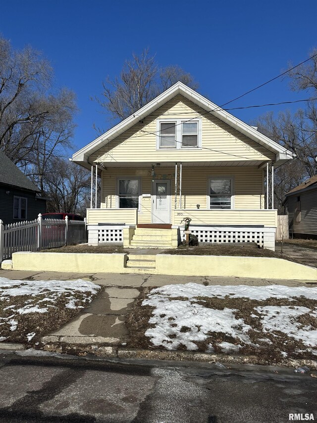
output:
[[[184,236],[182,220],[190,217],[200,242],[274,249],[273,167],[293,157],[177,82],[72,160],[92,173],[90,243],[176,246]],[[93,195],[96,172],[100,204]]]

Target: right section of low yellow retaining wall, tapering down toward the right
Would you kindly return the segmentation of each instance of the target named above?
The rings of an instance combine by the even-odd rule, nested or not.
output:
[[[317,281],[317,269],[314,267],[273,257],[157,254],[156,273]]]

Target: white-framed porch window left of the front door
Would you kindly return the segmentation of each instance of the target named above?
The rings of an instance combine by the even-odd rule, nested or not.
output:
[[[141,206],[141,181],[140,178],[118,178],[117,198],[119,209],[139,209]]]

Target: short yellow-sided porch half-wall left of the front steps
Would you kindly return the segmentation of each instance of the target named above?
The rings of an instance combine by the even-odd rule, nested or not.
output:
[[[98,225],[99,223],[125,223],[135,225],[137,223],[136,209],[87,209],[87,224]]]

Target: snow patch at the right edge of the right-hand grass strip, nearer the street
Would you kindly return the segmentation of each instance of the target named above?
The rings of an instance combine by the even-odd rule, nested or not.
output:
[[[317,310],[311,311],[307,307],[297,306],[265,306],[255,308],[261,313],[261,322],[264,332],[280,331],[287,336],[302,341],[308,347],[317,346],[317,330],[312,326],[303,326],[296,318],[310,313],[317,317]]]

